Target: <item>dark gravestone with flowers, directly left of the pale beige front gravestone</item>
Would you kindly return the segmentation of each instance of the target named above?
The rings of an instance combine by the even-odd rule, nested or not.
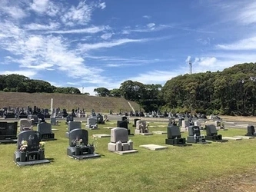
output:
[[[95,146],[88,144],[88,131],[80,128],[70,131],[67,154],[78,160],[101,157],[95,153]]]

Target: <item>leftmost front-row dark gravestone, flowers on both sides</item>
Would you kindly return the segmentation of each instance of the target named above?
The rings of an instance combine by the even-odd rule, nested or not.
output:
[[[23,145],[26,142],[26,145]],[[14,153],[14,161],[19,167],[33,164],[47,164],[45,150],[39,146],[41,134],[38,131],[22,131],[18,134],[17,151]]]

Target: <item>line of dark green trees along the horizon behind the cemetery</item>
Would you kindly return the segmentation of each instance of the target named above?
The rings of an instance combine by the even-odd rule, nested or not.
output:
[[[19,74],[0,75],[0,91],[81,94],[78,88],[58,88]],[[128,80],[120,88],[94,91],[100,97],[137,101],[146,112],[254,115],[256,63],[234,65],[217,72],[178,75],[164,86]]]

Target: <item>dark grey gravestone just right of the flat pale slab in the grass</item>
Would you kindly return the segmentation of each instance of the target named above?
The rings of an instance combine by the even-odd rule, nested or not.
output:
[[[186,144],[186,138],[181,137],[180,127],[171,125],[167,127],[167,139],[165,139],[165,144],[171,144],[175,146],[188,146],[191,144]]]

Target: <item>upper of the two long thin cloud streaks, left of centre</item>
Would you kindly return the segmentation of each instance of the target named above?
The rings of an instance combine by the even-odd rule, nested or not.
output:
[[[58,30],[58,31],[46,31],[45,34],[71,34],[71,33],[98,33],[100,31],[104,31],[108,29],[108,26],[95,26],[91,28],[78,28],[78,29],[71,29],[71,30]]]

